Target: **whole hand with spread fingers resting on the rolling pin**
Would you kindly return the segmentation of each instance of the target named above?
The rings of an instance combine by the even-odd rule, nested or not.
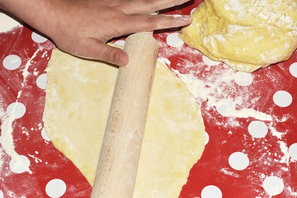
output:
[[[128,54],[105,44],[135,32],[180,27],[190,16],[149,15],[188,0],[66,0],[56,3],[45,33],[71,54],[124,66]],[[62,2],[62,3],[61,3]]]

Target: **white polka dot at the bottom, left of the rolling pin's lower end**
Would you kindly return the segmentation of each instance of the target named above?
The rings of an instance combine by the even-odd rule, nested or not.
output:
[[[66,192],[66,184],[63,180],[50,180],[46,186],[46,193],[51,198],[59,198]]]

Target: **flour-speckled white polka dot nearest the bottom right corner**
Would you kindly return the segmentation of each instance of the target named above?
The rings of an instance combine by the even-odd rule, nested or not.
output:
[[[270,176],[264,180],[263,188],[269,195],[279,195],[284,190],[284,183],[282,179]]]

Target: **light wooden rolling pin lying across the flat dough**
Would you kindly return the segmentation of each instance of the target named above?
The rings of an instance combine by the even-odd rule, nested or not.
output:
[[[152,32],[129,36],[103,137],[91,198],[132,198],[159,45]]]

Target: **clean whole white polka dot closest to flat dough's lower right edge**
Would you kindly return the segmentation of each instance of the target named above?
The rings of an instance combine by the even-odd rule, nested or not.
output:
[[[235,170],[244,170],[248,164],[249,160],[245,153],[234,152],[229,156],[229,165]]]

